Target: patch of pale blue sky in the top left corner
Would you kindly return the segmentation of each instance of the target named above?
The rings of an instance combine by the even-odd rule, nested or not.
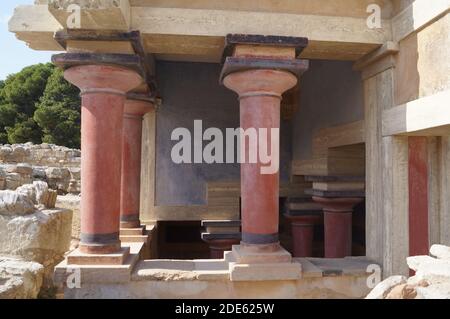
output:
[[[8,32],[8,20],[18,5],[33,4],[33,0],[1,0],[0,1],[0,80],[10,73],[40,62],[49,62],[55,52],[34,51],[22,41]]]

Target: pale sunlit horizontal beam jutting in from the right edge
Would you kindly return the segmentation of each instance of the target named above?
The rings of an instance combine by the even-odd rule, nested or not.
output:
[[[450,90],[424,97],[383,112],[383,136],[450,135]]]

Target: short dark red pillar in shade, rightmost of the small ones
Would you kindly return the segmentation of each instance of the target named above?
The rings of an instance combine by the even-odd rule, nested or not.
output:
[[[353,208],[363,199],[313,196],[313,200],[323,206],[325,258],[351,256]]]

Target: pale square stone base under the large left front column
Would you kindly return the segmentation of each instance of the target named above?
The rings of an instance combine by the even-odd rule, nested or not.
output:
[[[121,247],[118,252],[92,254],[75,249],[67,256],[68,265],[123,265],[130,255],[130,247]]]

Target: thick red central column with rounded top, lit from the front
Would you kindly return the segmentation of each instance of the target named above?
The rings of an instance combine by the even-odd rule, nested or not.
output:
[[[281,95],[297,84],[296,76],[286,71],[248,70],[226,76],[223,83],[239,94],[241,128],[266,128],[270,149],[270,129],[280,128]],[[242,245],[278,249],[279,171],[262,174],[260,169],[266,164],[259,156],[256,163],[248,163],[248,146],[241,164]],[[275,147],[279,150],[279,140]]]

